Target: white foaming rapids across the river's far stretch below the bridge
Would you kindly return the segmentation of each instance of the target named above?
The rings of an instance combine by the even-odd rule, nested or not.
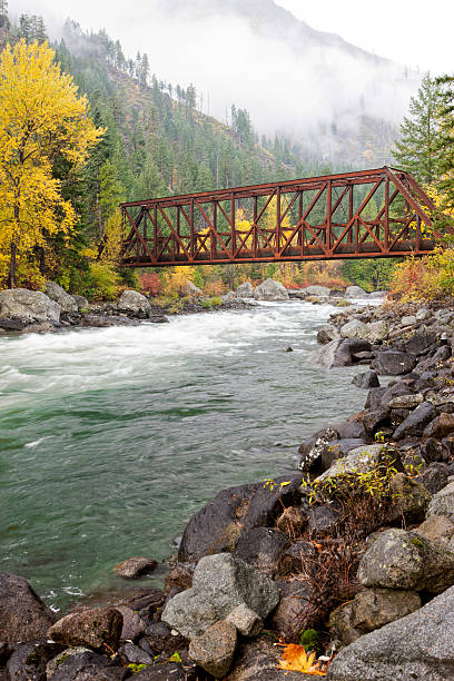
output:
[[[159,381],[190,357],[231,355],[273,334],[290,339],[320,324],[332,306],[263,303],[247,312],[170,318],[169,324],[26,335],[0,340],[0,407],[46,394]],[[31,445],[30,445],[31,446]]]

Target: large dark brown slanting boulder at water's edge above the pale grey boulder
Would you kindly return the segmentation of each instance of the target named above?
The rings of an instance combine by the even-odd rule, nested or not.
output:
[[[261,482],[223,490],[186,525],[178,560],[196,562],[204,555],[231,551],[243,531],[273,525],[283,504],[293,505],[299,499],[302,478],[290,475],[269,485]]]

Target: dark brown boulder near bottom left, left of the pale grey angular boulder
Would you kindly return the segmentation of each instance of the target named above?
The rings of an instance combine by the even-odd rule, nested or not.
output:
[[[103,650],[105,643],[118,648],[121,630],[122,615],[118,610],[96,608],[67,614],[49,629],[48,635],[56,643]]]

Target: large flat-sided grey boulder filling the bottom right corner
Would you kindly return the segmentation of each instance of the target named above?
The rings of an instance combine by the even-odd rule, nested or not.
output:
[[[361,636],[333,660],[327,681],[446,681],[454,678],[454,588]]]

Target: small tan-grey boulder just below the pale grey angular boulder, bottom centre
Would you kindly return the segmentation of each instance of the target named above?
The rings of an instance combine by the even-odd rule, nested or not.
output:
[[[230,622],[216,622],[189,644],[189,657],[215,679],[224,679],[231,667],[237,631]]]

